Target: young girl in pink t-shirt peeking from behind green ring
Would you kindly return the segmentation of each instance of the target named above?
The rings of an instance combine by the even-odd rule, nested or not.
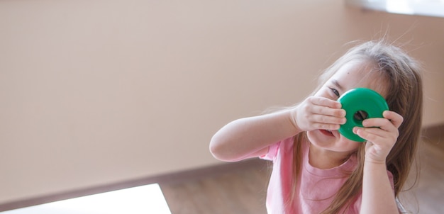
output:
[[[398,47],[371,41],[350,49],[320,81],[296,106],[228,123],[211,138],[211,153],[227,162],[273,161],[268,213],[399,213],[396,197],[421,128],[416,62]],[[353,128],[366,142],[338,133],[345,110],[337,99],[357,87],[377,91],[390,109]]]

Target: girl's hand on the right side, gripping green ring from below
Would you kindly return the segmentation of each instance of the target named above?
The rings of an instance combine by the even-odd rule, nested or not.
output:
[[[384,111],[384,118],[362,121],[364,128],[355,127],[353,133],[367,140],[365,161],[385,163],[385,159],[399,136],[399,126],[404,118],[394,111]]]

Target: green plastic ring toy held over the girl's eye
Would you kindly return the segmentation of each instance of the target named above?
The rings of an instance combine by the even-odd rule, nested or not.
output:
[[[338,102],[345,110],[347,122],[340,125],[339,133],[350,140],[365,142],[364,139],[353,133],[355,126],[363,127],[362,120],[367,118],[383,118],[382,113],[389,110],[384,97],[372,89],[351,89],[340,96]]]

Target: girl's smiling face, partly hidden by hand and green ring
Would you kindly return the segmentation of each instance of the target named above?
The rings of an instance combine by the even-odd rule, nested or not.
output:
[[[314,96],[323,96],[332,100],[338,100],[345,91],[364,87],[377,91],[385,97],[387,94],[387,81],[378,72],[371,72],[372,65],[365,62],[352,61],[344,64],[333,77],[326,81]],[[353,152],[362,144],[348,140],[340,135],[338,130],[331,130],[333,136],[326,130],[312,130],[307,132],[310,142],[316,147],[321,147],[332,152]]]

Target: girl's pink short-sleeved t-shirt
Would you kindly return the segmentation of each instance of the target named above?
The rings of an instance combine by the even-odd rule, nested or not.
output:
[[[348,179],[344,172],[353,171],[357,166],[356,159],[350,157],[345,163],[332,169],[318,169],[309,164],[309,142],[303,142],[301,177],[296,179],[294,200],[289,206],[287,201],[291,197],[293,188],[293,145],[294,137],[282,140],[271,145],[268,153],[261,157],[273,161],[267,190],[267,212],[269,214],[321,213],[331,204],[335,193]],[[389,171],[387,174],[393,188],[393,176]],[[360,205],[361,196],[357,196],[345,213],[359,213]]]

